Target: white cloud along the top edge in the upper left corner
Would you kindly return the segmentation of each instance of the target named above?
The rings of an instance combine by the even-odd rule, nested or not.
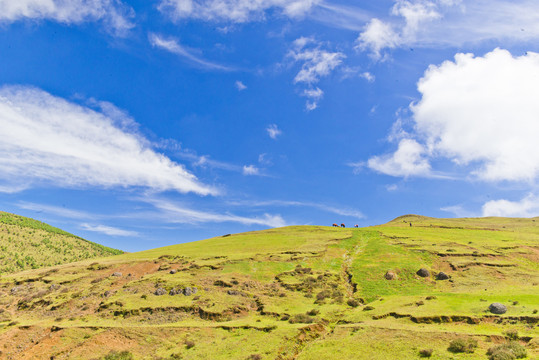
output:
[[[65,24],[101,21],[118,35],[134,25],[133,10],[119,0],[0,0],[0,22],[23,19]]]

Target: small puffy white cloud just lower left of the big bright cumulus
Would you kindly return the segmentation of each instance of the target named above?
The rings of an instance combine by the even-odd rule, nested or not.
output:
[[[430,164],[425,149],[417,141],[403,139],[393,154],[374,156],[367,162],[372,170],[391,176],[429,176]]]

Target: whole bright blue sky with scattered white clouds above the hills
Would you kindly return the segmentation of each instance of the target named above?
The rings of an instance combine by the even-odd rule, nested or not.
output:
[[[0,0],[0,205],[127,251],[539,215],[539,4]]]

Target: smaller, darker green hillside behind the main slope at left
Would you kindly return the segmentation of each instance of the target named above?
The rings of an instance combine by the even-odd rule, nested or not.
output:
[[[0,274],[121,253],[40,221],[0,212]]]

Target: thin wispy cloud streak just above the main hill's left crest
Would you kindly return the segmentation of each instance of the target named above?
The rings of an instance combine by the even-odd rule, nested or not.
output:
[[[264,214],[259,217],[245,217],[234,214],[217,214],[193,210],[179,204],[162,199],[144,199],[161,211],[161,218],[170,223],[197,224],[213,222],[235,222],[244,225],[264,225],[270,227],[286,226],[280,215]]]

